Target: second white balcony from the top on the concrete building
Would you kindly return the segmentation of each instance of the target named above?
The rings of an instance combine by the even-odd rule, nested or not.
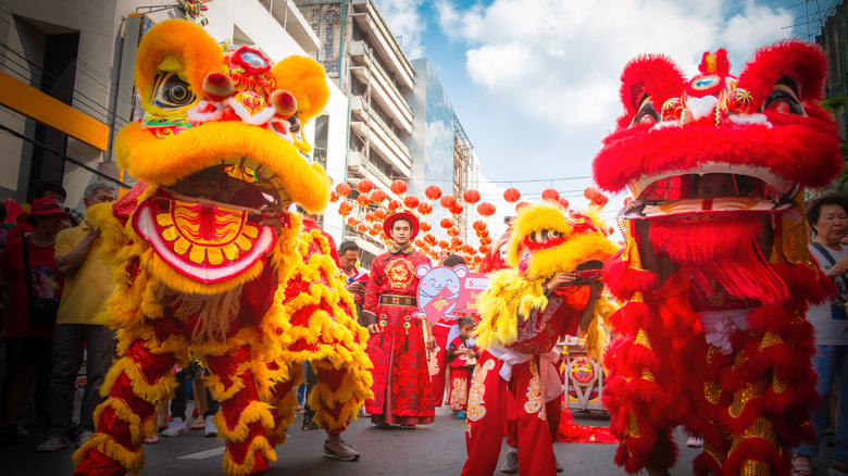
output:
[[[370,84],[372,98],[391,116],[398,127],[406,134],[412,134],[412,109],[383,66],[371,57],[367,46],[363,41],[353,41],[350,45],[350,54],[356,62],[350,66],[353,76],[364,84]]]

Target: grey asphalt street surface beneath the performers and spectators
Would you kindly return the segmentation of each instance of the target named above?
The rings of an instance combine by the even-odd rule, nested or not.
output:
[[[451,416],[446,408],[436,410],[433,425],[419,426],[414,430],[372,428],[370,418],[351,423],[342,438],[356,448],[362,458],[357,462],[342,462],[323,456],[325,434],[322,430],[303,431],[300,416],[287,431],[288,440],[277,447],[277,462],[266,476],[337,476],[337,475],[401,475],[440,476],[458,475],[465,461],[464,421]],[[607,426],[609,418],[600,413],[575,414],[579,425]],[[674,476],[690,475],[691,460],[700,450],[686,447],[686,435],[678,428],[676,440],[681,448],[678,463],[671,471]],[[833,436],[826,436],[833,444]],[[34,431],[21,439],[15,447],[0,448],[0,474],[2,475],[70,475],[73,471],[73,448],[36,453],[35,447],[47,439],[46,431]],[[612,463],[614,444],[556,443],[557,459],[565,467],[564,475],[593,476],[625,475]],[[224,441],[204,438],[202,430],[165,438],[159,443],[145,444],[146,463],[142,475],[212,476],[223,474],[221,463]],[[503,462],[504,449],[498,465]],[[833,448],[822,444],[818,475],[827,474],[833,461]],[[496,475],[502,473],[496,472]],[[531,475],[532,476],[532,475]]]

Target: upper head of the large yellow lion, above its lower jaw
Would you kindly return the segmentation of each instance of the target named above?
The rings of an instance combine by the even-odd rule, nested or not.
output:
[[[145,116],[115,143],[119,165],[133,177],[251,209],[262,200],[326,206],[329,180],[300,153],[309,152],[302,124],[329,97],[314,60],[272,64],[254,48],[224,52],[202,27],[172,20],[141,39],[135,80]],[[224,174],[260,193],[213,190]]]

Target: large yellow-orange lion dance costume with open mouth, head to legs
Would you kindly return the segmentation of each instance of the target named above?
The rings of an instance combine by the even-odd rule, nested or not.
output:
[[[224,52],[200,26],[167,21],[139,45],[145,116],[117,136],[117,163],[145,185],[92,208],[119,290],[101,314],[119,360],[101,391],[98,433],[76,474],[137,474],[154,410],[192,354],[212,371],[226,440],[224,471],[276,460],[292,422],[302,363],[321,383],[314,419],[342,430],[371,396],[364,329],[317,230],[301,233],[291,202],[320,211],[329,180],[300,135],[328,98],[323,68],[259,50]]]

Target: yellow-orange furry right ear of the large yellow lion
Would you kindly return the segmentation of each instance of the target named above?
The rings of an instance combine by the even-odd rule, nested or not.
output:
[[[271,68],[277,89],[285,89],[298,101],[298,118],[307,123],[319,115],[329,100],[326,74],[321,64],[307,57],[288,57]]]

